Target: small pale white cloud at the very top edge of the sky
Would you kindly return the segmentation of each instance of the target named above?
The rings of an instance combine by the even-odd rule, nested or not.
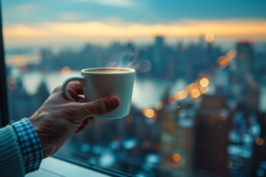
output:
[[[134,7],[134,3],[131,0],[76,0],[78,2],[90,2],[103,6],[129,8]]]

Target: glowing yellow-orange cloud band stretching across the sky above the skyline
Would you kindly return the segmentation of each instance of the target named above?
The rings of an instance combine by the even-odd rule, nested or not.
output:
[[[145,38],[163,35],[165,37],[198,37],[213,33],[215,38],[251,39],[266,41],[265,20],[183,20],[172,24],[111,24],[106,22],[42,23],[35,26],[13,25],[4,27],[7,42],[17,39],[26,41],[71,41],[72,39]]]

